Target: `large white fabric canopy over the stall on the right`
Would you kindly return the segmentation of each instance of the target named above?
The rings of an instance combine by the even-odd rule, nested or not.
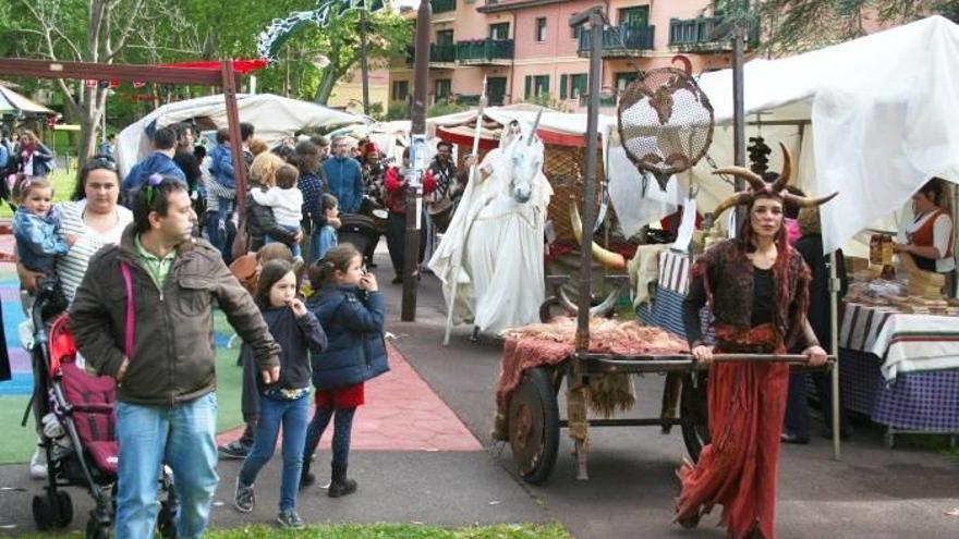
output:
[[[798,156],[799,185],[810,195],[839,192],[823,206],[823,243],[841,247],[898,210],[930,177],[959,183],[959,26],[942,16],[781,60],[745,64],[748,121],[770,147]],[[699,84],[717,128],[709,156],[732,163],[732,72]],[[770,170],[780,163],[778,149]],[[701,161],[688,180],[703,187],[706,210],[731,187]]]

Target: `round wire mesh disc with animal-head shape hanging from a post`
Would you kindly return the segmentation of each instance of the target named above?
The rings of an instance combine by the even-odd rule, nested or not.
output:
[[[688,170],[713,142],[713,106],[685,72],[659,68],[642,73],[619,100],[619,136],[630,160],[656,176]]]

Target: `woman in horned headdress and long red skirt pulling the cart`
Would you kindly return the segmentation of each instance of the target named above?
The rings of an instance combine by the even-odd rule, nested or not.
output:
[[[738,167],[716,173],[750,182],[714,211],[743,205],[749,220],[737,240],[703,254],[692,269],[683,302],[683,321],[696,360],[709,364],[708,412],[712,442],[699,463],[683,462],[677,470],[682,491],[676,500],[676,522],[695,527],[714,505],[723,505],[720,524],[728,537],[773,539],[775,534],[776,467],[779,434],[786,411],[789,365],[786,363],[713,363],[720,354],[784,354],[798,345],[810,365],[823,365],[826,352],[806,321],[810,270],[789,246],[782,225],[784,203],[801,207],[831,197],[809,199],[785,191],[790,159],[779,179],[763,183]],[[835,195],[834,195],[835,196]],[[702,335],[700,309],[709,304],[715,346]]]

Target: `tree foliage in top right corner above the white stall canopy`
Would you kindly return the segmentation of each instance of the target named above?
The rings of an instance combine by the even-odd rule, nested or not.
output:
[[[718,0],[729,22],[758,25],[762,51],[781,56],[848,41],[871,24],[906,24],[932,13],[956,20],[957,0]]]

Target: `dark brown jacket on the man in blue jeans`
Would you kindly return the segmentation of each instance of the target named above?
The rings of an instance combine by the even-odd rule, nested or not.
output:
[[[116,378],[126,355],[126,286],[120,262],[129,265],[136,323],[132,357],[118,384],[120,401],[171,406],[216,389],[214,301],[250,344],[260,370],[280,364],[280,346],[216,248],[203,240],[183,242],[159,290],[142,266],[134,235],[131,224],[119,245],[94,255],[70,308],[70,330],[88,366]]]

